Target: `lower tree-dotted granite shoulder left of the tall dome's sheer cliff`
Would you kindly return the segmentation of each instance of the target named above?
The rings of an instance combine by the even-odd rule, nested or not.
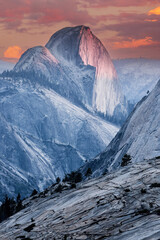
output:
[[[38,83],[54,89],[74,104],[90,109],[92,104],[93,79],[95,71],[91,67],[72,69],[62,66],[46,47],[28,49],[14,67],[14,71],[27,72],[35,76]],[[41,76],[45,79],[40,82]]]

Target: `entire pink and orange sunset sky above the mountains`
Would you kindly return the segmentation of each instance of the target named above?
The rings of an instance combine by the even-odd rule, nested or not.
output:
[[[17,61],[76,25],[89,26],[113,59],[160,59],[160,0],[0,0],[0,59]]]

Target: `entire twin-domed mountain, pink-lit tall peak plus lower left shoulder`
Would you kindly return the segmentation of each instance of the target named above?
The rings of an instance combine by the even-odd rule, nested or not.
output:
[[[49,51],[48,51],[48,50]],[[128,105],[111,58],[90,28],[64,28],[45,47],[29,49],[14,71],[43,72],[52,88],[76,105],[121,123]]]

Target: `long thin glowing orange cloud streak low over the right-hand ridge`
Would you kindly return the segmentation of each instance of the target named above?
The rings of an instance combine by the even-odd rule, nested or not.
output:
[[[155,42],[152,40],[152,37],[145,37],[143,39],[133,39],[129,38],[129,41],[121,41],[121,42],[114,42],[113,47],[115,49],[117,48],[137,48],[140,46],[148,46],[155,44]]]

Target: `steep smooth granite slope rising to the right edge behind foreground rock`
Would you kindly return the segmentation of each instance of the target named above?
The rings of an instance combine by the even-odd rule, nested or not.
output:
[[[136,105],[106,150],[88,163],[83,171],[91,167],[93,175],[98,176],[116,169],[125,154],[131,156],[133,163],[160,157],[159,119],[160,80],[152,92]]]

